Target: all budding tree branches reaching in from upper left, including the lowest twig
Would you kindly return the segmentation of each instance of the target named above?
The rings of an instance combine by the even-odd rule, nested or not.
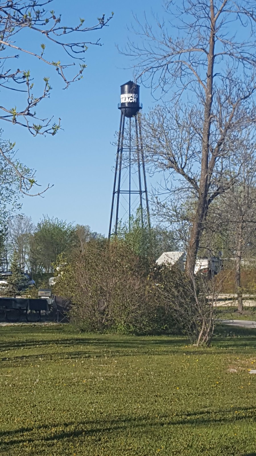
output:
[[[94,42],[80,41],[80,36],[84,36],[85,32],[101,30],[113,17],[113,13],[108,18],[103,14],[92,26],[85,26],[86,21],[82,17],[74,25],[62,25],[61,14],[47,9],[53,3],[54,0],[0,1],[0,88],[2,95],[6,92],[8,100],[5,103],[2,99],[0,120],[23,126],[34,136],[55,135],[61,128],[61,119],[53,122],[52,115],[42,119],[36,113],[39,103],[50,97],[52,87],[48,71],[53,70],[61,78],[63,88],[82,79],[87,67],[87,46],[101,46],[101,42],[99,39]],[[28,41],[23,41],[24,31],[29,36]],[[41,44],[39,40],[42,40]],[[56,53],[58,57],[52,60]],[[33,71],[26,67],[28,56],[32,63],[41,64],[47,74],[42,74],[40,79],[34,78]],[[19,65],[16,63],[18,59]],[[35,174],[14,159],[14,146],[15,143],[9,143],[8,147],[0,145],[0,157],[9,167],[12,166],[11,185],[16,183],[16,179],[19,181],[16,193],[36,196],[46,192],[49,185],[31,194],[31,188],[38,185]]]

